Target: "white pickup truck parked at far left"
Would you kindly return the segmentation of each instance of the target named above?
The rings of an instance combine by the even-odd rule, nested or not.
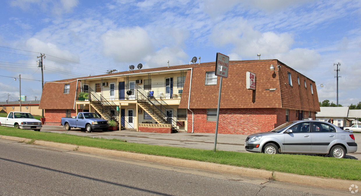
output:
[[[0,125],[35,131],[42,128],[42,122],[34,119],[29,112],[9,112],[8,117],[0,117]]]

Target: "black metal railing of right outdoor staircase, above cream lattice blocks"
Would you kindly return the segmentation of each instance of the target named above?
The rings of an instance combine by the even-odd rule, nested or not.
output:
[[[138,85],[136,87],[136,91],[136,99],[138,102],[144,103],[144,105],[151,110],[153,116],[158,116],[165,124],[172,124],[177,127],[177,112],[172,107],[170,107],[162,99],[155,99],[151,96],[151,94],[140,88]]]

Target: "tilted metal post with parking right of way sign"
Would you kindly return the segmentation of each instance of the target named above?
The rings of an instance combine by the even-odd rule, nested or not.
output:
[[[228,77],[228,65],[229,65],[229,57],[217,53],[216,54],[216,71],[214,72],[216,76],[221,77],[219,79],[219,91],[218,91],[218,106],[217,106],[217,120],[216,120],[216,132],[214,135],[214,148],[213,151],[216,152],[217,145],[217,132],[218,132],[218,119],[219,119],[219,103],[221,102],[221,90],[222,90],[222,78]]]

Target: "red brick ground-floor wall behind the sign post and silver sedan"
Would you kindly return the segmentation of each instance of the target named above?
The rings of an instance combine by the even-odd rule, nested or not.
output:
[[[214,133],[216,121],[206,121],[207,109],[191,109],[194,112],[194,133]],[[220,109],[218,133],[252,134],[266,132],[285,123],[286,112],[277,108]],[[187,114],[188,132],[192,132],[192,113]]]

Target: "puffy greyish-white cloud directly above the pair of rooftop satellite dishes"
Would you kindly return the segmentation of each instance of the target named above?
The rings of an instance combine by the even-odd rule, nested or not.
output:
[[[109,30],[101,36],[103,53],[117,62],[139,62],[153,52],[148,33],[140,27]]]

